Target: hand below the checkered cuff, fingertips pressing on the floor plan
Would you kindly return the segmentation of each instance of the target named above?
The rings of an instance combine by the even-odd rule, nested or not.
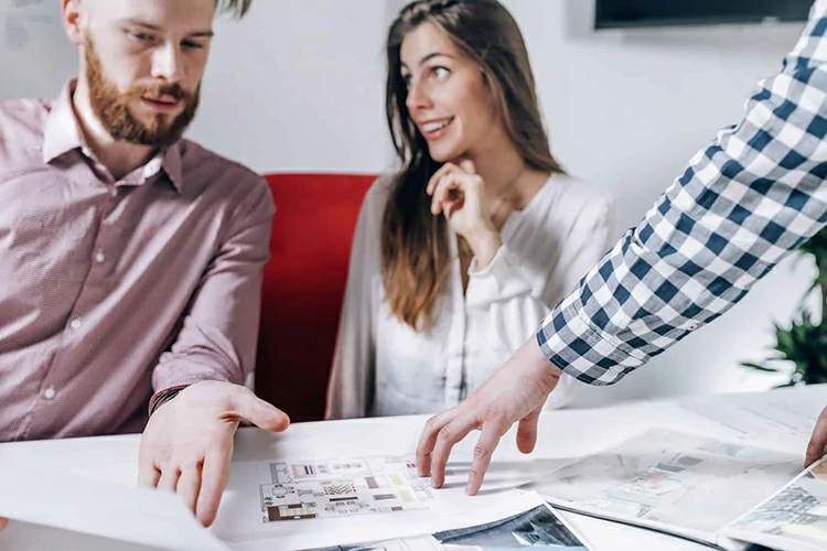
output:
[[[529,338],[465,401],[428,420],[417,446],[419,476],[430,474],[431,485],[441,487],[451,449],[480,429],[465,487],[468,495],[476,494],[500,439],[515,422],[519,421],[517,447],[523,453],[534,451],[543,404],[561,375],[540,352],[537,341]]]

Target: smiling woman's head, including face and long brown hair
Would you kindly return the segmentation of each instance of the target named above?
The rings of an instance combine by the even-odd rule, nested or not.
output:
[[[421,57],[405,60],[405,50]],[[549,151],[522,33],[496,0],[411,2],[390,28],[387,56],[388,125],[404,169],[383,222],[383,277],[393,312],[416,326],[432,313],[450,263],[445,220],[421,193],[440,165],[502,143],[529,169],[563,171]],[[460,106],[459,121],[439,112]]]

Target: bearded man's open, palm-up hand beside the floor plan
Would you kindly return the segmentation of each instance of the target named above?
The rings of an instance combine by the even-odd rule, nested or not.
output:
[[[185,388],[155,410],[143,431],[139,484],[178,491],[201,523],[212,525],[241,419],[271,432],[290,424],[283,412],[245,387],[204,381]]]

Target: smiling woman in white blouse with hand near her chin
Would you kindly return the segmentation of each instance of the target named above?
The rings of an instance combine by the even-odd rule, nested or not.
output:
[[[459,403],[613,233],[612,199],[549,151],[523,36],[497,0],[411,2],[388,32],[387,62],[401,170],[374,184],[359,215],[331,418]],[[578,383],[561,385],[549,407]]]

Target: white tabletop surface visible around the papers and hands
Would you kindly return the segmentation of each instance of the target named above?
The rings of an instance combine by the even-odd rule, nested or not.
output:
[[[785,397],[791,403],[808,401],[809,409],[815,411],[814,420],[817,413],[815,404],[827,404],[827,386],[773,392],[776,397]],[[751,399],[760,403],[764,396],[759,393]],[[312,458],[410,453],[416,449],[425,419],[412,417],[297,423],[283,434],[269,434],[258,429],[243,428],[236,436],[234,461],[264,461],[286,455]],[[550,469],[571,457],[597,453],[655,426],[732,437],[732,431],[729,429],[687,411],[677,401],[644,401],[603,409],[548,411],[541,418],[539,442],[537,450],[530,456],[523,456],[516,451],[513,434],[503,439],[492,463],[494,473],[492,479],[496,478],[497,466],[502,467],[513,462],[527,462],[527,467]],[[469,461],[474,442],[475,439],[466,439],[458,446],[452,461]],[[767,444],[767,442],[760,441],[755,443]],[[56,472],[135,484],[138,444],[139,435],[9,443],[0,444],[0,455],[14,461],[25,461],[32,467],[46,467]],[[775,444],[776,447],[798,451],[803,455],[806,439],[798,437],[794,443],[787,441],[782,445],[777,442]],[[449,490],[462,491],[462,488]],[[72,506],[71,496],[50,497],[63,506]],[[568,512],[561,515],[597,551],[708,549],[637,528]],[[309,522],[308,529],[312,530],[314,527]],[[0,536],[0,549],[4,551],[39,549],[135,551],[148,548],[101,541],[32,525],[12,523]]]

